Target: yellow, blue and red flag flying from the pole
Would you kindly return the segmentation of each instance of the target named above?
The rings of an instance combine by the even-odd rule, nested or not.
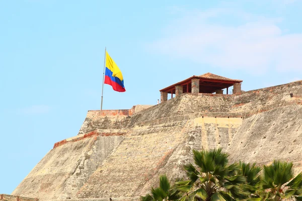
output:
[[[112,86],[113,90],[124,92],[126,91],[124,86],[124,79],[121,70],[111,59],[106,51],[106,70],[105,70],[105,84]]]

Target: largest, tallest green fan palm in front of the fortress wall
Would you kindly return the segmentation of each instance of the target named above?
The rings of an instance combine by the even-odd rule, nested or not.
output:
[[[174,188],[184,192],[184,200],[236,200],[243,194],[240,183],[246,178],[237,175],[238,164],[229,165],[229,154],[221,148],[213,150],[193,150],[195,166],[184,166],[189,180],[176,182]]]

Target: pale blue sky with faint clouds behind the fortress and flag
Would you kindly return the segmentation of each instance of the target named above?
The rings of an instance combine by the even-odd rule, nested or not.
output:
[[[185,2],[0,1],[0,193],[100,109],[105,46],[126,87],[105,85],[105,110],[206,72],[244,90],[302,79],[301,1]]]

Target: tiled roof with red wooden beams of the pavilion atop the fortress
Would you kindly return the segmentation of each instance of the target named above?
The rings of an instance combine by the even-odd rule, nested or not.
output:
[[[234,83],[240,83],[243,80],[239,79],[230,79],[227,77],[222,77],[219,75],[215,75],[212,73],[204,73],[202,75],[193,75],[192,77],[189,77],[185,80],[182,80],[180,82],[177,82],[175,84],[172,84],[166,88],[161,89],[160,91],[166,91],[166,92],[171,92],[175,93],[175,86],[177,85],[182,85],[184,86],[184,91],[186,91],[187,85],[191,85],[191,79],[199,79],[199,85],[203,86],[200,88],[200,92],[203,93],[212,93],[217,89],[223,89],[226,87],[230,87],[234,85]]]

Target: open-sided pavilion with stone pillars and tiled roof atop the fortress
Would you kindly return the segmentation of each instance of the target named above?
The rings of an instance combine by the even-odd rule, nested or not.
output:
[[[242,81],[243,80],[230,79],[209,72],[202,75],[193,75],[183,81],[161,89],[161,103],[168,100],[168,93],[171,93],[171,98],[173,94],[178,96],[185,92],[192,93],[192,95],[214,92],[222,94],[222,89],[226,88],[226,94],[229,94],[230,86],[234,86],[233,93],[241,93]]]

